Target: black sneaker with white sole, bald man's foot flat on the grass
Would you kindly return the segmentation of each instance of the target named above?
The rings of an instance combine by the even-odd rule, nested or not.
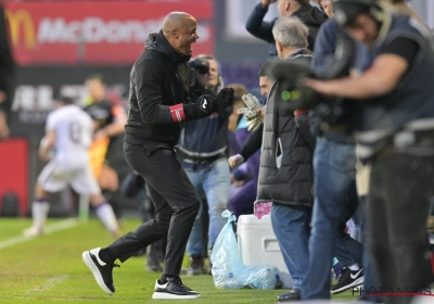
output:
[[[201,295],[184,286],[180,278],[167,278],[167,282],[162,284],[159,280],[155,282],[152,299],[197,299]]]

